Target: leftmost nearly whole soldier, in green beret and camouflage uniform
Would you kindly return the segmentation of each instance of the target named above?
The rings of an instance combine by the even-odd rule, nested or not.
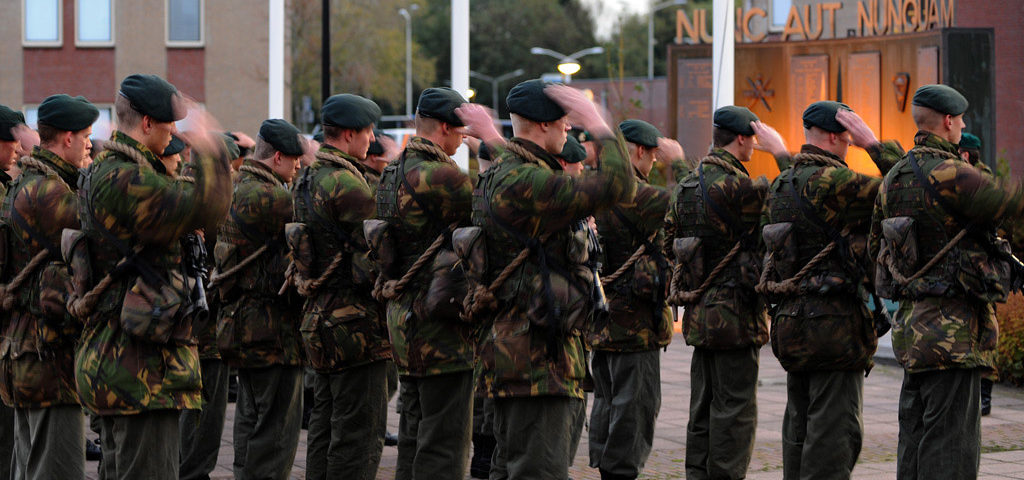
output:
[[[42,143],[22,160],[22,175],[4,199],[0,395],[14,407],[13,478],[85,475],[85,423],[74,383],[81,324],[65,308],[70,292],[57,245],[65,228],[80,226],[78,169],[88,161],[98,117],[83,97],[43,100]]]

